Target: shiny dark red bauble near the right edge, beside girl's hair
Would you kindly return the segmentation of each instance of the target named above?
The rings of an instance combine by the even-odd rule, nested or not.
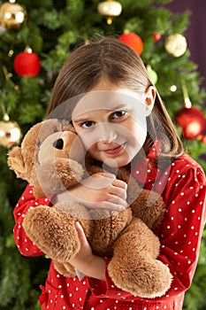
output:
[[[181,109],[176,113],[175,121],[182,129],[182,135],[186,139],[195,139],[205,130],[204,114],[195,106]]]

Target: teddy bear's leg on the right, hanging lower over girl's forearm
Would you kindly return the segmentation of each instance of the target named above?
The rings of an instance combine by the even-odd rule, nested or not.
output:
[[[160,260],[157,236],[140,220],[134,219],[114,244],[108,266],[113,282],[134,296],[155,298],[170,288],[172,275]]]

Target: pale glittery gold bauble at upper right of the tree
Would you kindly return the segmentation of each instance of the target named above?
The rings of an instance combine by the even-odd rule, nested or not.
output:
[[[184,35],[169,35],[164,42],[165,50],[173,57],[182,56],[187,50],[187,39]]]

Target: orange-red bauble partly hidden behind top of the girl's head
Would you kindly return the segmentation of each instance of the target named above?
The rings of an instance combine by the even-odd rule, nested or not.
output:
[[[143,42],[141,40],[140,35],[136,35],[133,32],[120,35],[118,40],[126,43],[126,45],[130,46],[131,49],[135,50],[138,55],[141,55],[143,50]]]

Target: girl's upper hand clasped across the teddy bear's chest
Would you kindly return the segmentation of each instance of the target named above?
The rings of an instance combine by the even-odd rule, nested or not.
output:
[[[75,200],[88,208],[122,211],[126,208],[126,182],[113,174],[96,173],[76,186],[58,194],[52,203]]]

